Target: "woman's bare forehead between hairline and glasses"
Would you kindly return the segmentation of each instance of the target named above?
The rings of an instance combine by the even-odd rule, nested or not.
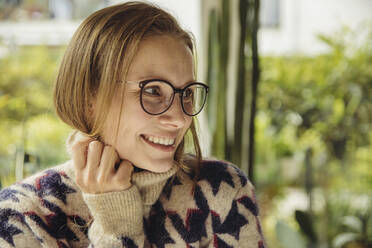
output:
[[[159,78],[175,86],[194,80],[191,49],[180,39],[149,36],[143,39],[129,67],[128,81]]]

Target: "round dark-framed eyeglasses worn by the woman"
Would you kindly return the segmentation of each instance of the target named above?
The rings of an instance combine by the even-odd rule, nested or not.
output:
[[[186,115],[195,116],[202,111],[209,88],[205,84],[195,82],[179,89],[161,79],[127,83],[139,84],[142,109],[150,115],[160,115],[166,112],[172,105],[176,93],[179,93],[183,112]]]

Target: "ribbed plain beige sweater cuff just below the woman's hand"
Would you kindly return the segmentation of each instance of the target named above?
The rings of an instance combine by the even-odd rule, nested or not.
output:
[[[143,232],[143,204],[138,188],[103,194],[83,193],[95,225],[112,234],[136,235]]]

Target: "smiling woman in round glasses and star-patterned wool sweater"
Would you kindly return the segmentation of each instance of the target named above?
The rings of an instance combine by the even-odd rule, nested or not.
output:
[[[55,87],[71,161],[0,193],[0,247],[264,247],[252,185],[202,160],[190,35],[140,2],[89,16]],[[195,155],[185,155],[193,147]]]

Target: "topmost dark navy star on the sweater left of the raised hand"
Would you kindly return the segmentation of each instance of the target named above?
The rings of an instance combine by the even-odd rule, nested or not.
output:
[[[48,170],[46,174],[36,178],[35,186],[30,184],[22,184],[22,186],[30,191],[37,193],[40,198],[51,195],[61,200],[66,204],[66,196],[70,193],[75,193],[76,190],[67,186],[62,177],[68,178],[63,172],[58,173],[54,170]]]

